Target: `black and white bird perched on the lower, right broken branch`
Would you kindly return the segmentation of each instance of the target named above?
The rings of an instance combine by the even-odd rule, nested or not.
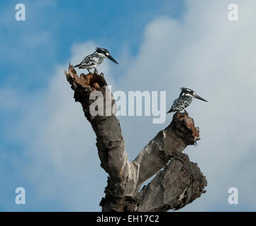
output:
[[[174,100],[171,109],[169,109],[169,112],[180,112],[186,107],[188,107],[192,102],[192,97],[196,97],[199,100],[204,100],[204,98],[199,97],[199,95],[196,95],[196,93],[189,89],[189,88],[181,88],[182,92],[180,93],[179,97]],[[208,102],[207,100],[204,100],[205,102]]]

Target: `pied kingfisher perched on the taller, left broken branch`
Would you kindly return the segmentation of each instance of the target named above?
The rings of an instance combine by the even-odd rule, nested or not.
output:
[[[108,49],[96,47],[96,51],[93,54],[84,57],[82,62],[74,66],[74,68],[78,67],[79,69],[87,69],[88,71],[89,69],[96,69],[95,67],[101,64],[103,62],[103,59],[106,57],[108,59],[111,59],[111,61],[115,62],[116,64],[118,64],[118,62],[115,59],[113,59],[113,57],[111,57],[111,55],[108,52]],[[89,73],[91,72],[89,71]]]

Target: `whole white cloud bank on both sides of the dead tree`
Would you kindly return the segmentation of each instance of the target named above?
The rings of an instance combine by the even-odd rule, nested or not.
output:
[[[230,1],[187,1],[182,21],[153,20],[145,29],[138,56],[119,62],[126,72],[118,85],[111,64],[104,61],[99,68],[113,90],[167,90],[167,108],[182,86],[209,101],[194,100],[187,109],[200,127],[201,141],[185,153],[198,162],[208,186],[206,194],[184,210],[232,210],[227,201],[230,186],[238,187],[241,205],[255,210],[256,198],[250,192],[256,186],[256,2],[235,2],[238,22],[228,20]],[[70,61],[79,63],[94,47],[92,42],[74,44]],[[62,201],[67,210],[89,210],[84,201],[92,201],[93,209],[99,210],[106,174],[99,167],[95,135],[82,107],[72,99],[64,70],[67,64],[57,66],[49,89],[27,117],[36,134],[33,141],[27,139],[33,160],[28,175],[40,196]],[[120,118],[130,160],[169,120],[170,116],[165,124],[156,125],[150,117]]]

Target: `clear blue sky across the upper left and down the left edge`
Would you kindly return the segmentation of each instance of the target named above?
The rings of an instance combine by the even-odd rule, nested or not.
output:
[[[28,203],[36,196],[33,184],[23,177],[22,167],[13,168],[16,161],[30,161],[26,143],[12,131],[22,121],[23,109],[29,108],[34,97],[48,87],[54,67],[67,62],[73,43],[93,41],[108,47],[117,58],[123,46],[130,54],[136,54],[148,21],[164,14],[179,16],[183,6],[181,1],[22,1],[26,21],[16,21],[17,3],[0,3],[0,88],[16,90],[14,94],[2,92],[0,99],[0,210],[65,210],[55,201],[33,206],[13,204],[14,190],[19,184],[26,187]],[[23,100],[18,100],[19,95],[23,95]]]

